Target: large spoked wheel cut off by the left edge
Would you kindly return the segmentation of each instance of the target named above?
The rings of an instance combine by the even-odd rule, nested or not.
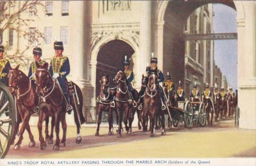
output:
[[[7,154],[15,131],[17,114],[9,89],[0,83],[0,158]]]

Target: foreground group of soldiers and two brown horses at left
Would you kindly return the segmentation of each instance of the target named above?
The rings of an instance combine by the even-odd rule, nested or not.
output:
[[[55,56],[49,64],[41,59],[42,49],[35,47],[33,49],[34,61],[29,68],[28,76],[19,70],[19,65],[11,67],[7,58],[3,57],[4,46],[0,46],[0,81],[6,84],[12,93],[16,102],[17,120],[15,134],[12,140],[14,149],[20,149],[25,130],[29,134],[29,147],[35,146],[34,136],[31,133],[29,119],[32,114],[39,115],[38,131],[40,149],[45,149],[48,144],[53,144],[53,130],[55,127],[56,141],[53,150],[59,150],[66,146],[66,112],[68,114],[74,111],[74,120],[77,125],[76,143],[82,141],[80,127],[85,123],[82,114],[83,97],[80,88],[73,82],[67,81],[67,75],[70,72],[69,60],[62,55],[64,50],[62,42],[54,42]],[[4,107],[4,106],[3,106]],[[5,115],[9,116],[9,110],[6,109]],[[51,133],[49,134],[48,125],[51,116]],[[42,134],[43,122],[45,121],[45,140]],[[19,124],[21,126],[19,127]],[[60,141],[60,123],[63,130],[63,136]]]

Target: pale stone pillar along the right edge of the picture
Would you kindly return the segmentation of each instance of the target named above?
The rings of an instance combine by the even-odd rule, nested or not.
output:
[[[256,2],[234,2],[238,25],[239,127],[256,129]]]

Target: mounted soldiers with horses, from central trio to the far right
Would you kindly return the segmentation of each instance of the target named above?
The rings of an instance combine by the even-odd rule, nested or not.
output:
[[[162,134],[165,134],[164,114],[168,111],[173,111],[177,105],[177,101],[185,101],[185,91],[182,89],[182,84],[179,81],[178,89],[175,91],[174,83],[171,82],[171,76],[167,73],[167,81],[164,82],[162,71],[157,67],[157,58],[152,53],[150,66],[146,67],[145,74],[142,75],[141,90],[138,92],[131,85],[134,79],[133,71],[129,69],[130,61],[125,56],[124,70],[119,70],[113,81],[117,83],[114,88],[109,87],[109,76],[104,75],[100,80],[101,88],[96,101],[97,105],[97,129],[95,135],[99,135],[99,129],[102,118],[102,111],[109,113],[109,135],[112,134],[113,111],[117,117],[117,133],[121,136],[122,117],[124,113],[124,125],[127,133],[132,131],[132,121],[137,112],[138,128],[147,130],[148,118],[150,120],[151,131],[150,136],[154,136],[154,125],[161,116],[162,119]],[[159,83],[163,83],[163,87]],[[208,124],[213,124],[213,114],[215,113],[215,121],[219,120],[219,116],[226,118],[234,115],[234,108],[237,104],[237,91],[233,93],[232,88],[226,93],[224,88],[221,91],[215,83],[214,92],[210,91],[209,85],[206,83],[205,91],[200,94],[196,84],[193,86],[189,97],[191,101],[204,101],[207,113]],[[211,116],[210,116],[211,114]],[[171,115],[171,114],[169,114]],[[211,117],[211,120],[210,120]],[[170,120],[170,116],[168,117]],[[171,126],[168,126],[171,127]]]

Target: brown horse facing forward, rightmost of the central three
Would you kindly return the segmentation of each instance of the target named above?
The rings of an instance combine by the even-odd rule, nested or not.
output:
[[[150,129],[151,133],[150,136],[154,136],[154,125],[155,125],[155,118],[161,116],[162,121],[162,135],[165,134],[165,117],[163,111],[161,109],[161,94],[159,90],[159,85],[157,85],[157,76],[150,75],[148,78],[148,83],[145,89],[145,96],[143,101],[143,112],[142,112],[142,120],[143,126],[146,123],[146,117],[150,116]],[[146,130],[146,129],[144,129]]]

